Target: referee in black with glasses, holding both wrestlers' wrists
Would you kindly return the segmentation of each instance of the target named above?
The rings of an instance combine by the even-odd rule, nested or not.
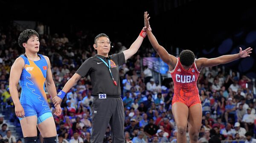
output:
[[[58,96],[53,98],[54,104],[61,103],[67,91],[81,77],[89,74],[93,86],[91,143],[103,142],[108,124],[111,126],[113,143],[125,143],[124,107],[121,98],[119,66],[140,48],[146,36],[145,28],[128,50],[111,56],[108,55],[111,48],[109,37],[106,34],[97,35],[93,44],[97,54],[85,60],[72,78],[67,81]]]

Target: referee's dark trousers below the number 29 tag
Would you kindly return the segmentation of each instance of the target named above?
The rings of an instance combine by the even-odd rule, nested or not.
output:
[[[93,98],[91,143],[102,143],[108,124],[113,143],[125,143],[125,112],[122,98]]]

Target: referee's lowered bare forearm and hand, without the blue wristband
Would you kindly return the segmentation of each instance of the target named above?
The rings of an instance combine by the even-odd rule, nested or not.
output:
[[[67,93],[71,87],[73,87],[77,81],[79,81],[79,79],[81,79],[81,76],[77,73],[75,73],[68,81],[67,83],[64,85],[62,91],[64,91],[65,93]],[[53,103],[56,104],[61,104],[62,99],[59,98],[58,96],[55,96],[52,99]]]

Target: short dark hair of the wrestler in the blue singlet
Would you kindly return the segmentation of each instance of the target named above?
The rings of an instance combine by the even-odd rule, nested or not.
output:
[[[20,36],[18,38],[18,43],[21,48],[24,48],[23,43],[28,42],[28,40],[31,36],[37,36],[39,38],[38,33],[33,29],[26,29],[20,33]]]

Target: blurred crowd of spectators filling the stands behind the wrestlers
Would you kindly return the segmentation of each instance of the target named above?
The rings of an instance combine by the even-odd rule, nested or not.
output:
[[[84,60],[96,54],[92,47],[95,34],[79,31],[70,38],[64,33],[45,34],[42,25],[36,29],[40,35],[39,53],[48,56],[52,63],[52,76],[58,92]],[[12,63],[20,54],[24,54],[24,50],[17,44],[19,34],[16,26],[0,27],[0,104],[4,108],[14,108],[8,86]],[[115,48],[111,49],[112,53],[127,49],[121,42],[114,42],[113,45]],[[172,115],[172,79],[169,78],[168,84],[161,85],[162,82],[154,78],[154,71],[141,64],[143,57],[157,57],[156,52],[150,46],[142,46],[140,51],[143,52],[138,52],[119,68],[125,109],[125,142],[177,143],[177,126]],[[236,72],[230,75],[219,67],[204,68],[201,71],[198,90],[203,120],[199,143],[208,143],[211,137],[246,140],[246,137],[254,135],[256,101],[251,83],[247,76],[238,77]],[[20,87],[18,91],[21,92]],[[62,114],[53,114],[59,143],[77,143],[77,140],[79,143],[90,143],[91,93],[92,85],[88,75],[67,92],[61,104]],[[52,112],[55,112],[48,93],[47,97]],[[3,117],[0,117],[0,128],[1,136],[7,137],[10,131]],[[106,129],[104,142],[112,142],[110,127]]]

